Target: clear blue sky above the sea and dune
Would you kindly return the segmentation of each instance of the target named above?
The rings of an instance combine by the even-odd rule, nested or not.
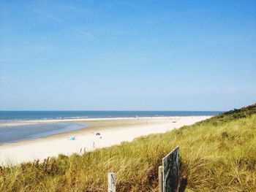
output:
[[[0,110],[256,101],[256,1],[0,1]]]

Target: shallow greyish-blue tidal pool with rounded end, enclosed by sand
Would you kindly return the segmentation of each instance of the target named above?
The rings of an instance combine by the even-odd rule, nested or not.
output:
[[[88,127],[84,123],[37,123],[22,126],[0,126],[0,143],[37,139]]]

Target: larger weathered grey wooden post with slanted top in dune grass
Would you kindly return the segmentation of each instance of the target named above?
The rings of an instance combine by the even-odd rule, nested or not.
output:
[[[163,166],[159,166],[159,177],[162,175],[162,178],[159,178],[159,192],[178,191],[178,153],[179,147],[177,146],[173,151],[162,158]],[[162,174],[160,174],[161,169]]]

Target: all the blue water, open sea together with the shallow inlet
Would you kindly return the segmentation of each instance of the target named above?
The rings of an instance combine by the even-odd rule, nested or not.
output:
[[[26,123],[29,120],[64,120],[79,118],[138,118],[218,115],[221,111],[0,111],[0,145],[9,142],[48,137],[86,128],[84,123]]]

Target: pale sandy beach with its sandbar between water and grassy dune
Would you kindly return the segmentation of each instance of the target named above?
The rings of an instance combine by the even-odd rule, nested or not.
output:
[[[136,137],[147,134],[165,133],[173,128],[191,125],[207,118],[210,118],[210,116],[34,120],[18,122],[19,125],[63,121],[79,122],[88,124],[89,128],[42,139],[0,145],[0,164],[15,165],[21,162],[34,161],[35,159],[43,160],[48,156],[80,153],[80,150],[83,153],[84,150],[91,151],[100,147],[118,145],[121,142],[131,142]],[[7,124],[10,125],[10,122]],[[102,135],[102,138],[96,136],[97,132]],[[76,140],[69,140],[70,136],[75,137]]]

